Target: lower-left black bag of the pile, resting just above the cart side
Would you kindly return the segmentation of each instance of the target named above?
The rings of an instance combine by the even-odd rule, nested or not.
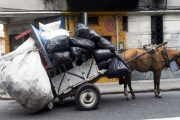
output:
[[[52,54],[52,63],[55,68],[59,68],[62,64],[71,63],[70,52],[55,52]]]

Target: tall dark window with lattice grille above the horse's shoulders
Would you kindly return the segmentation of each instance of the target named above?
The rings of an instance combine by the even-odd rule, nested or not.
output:
[[[151,17],[151,43],[161,44],[163,43],[163,17],[152,16]]]

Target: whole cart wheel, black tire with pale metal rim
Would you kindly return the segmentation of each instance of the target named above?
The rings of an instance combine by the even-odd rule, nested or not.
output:
[[[101,100],[99,88],[93,84],[82,84],[75,95],[76,104],[81,110],[94,110]]]

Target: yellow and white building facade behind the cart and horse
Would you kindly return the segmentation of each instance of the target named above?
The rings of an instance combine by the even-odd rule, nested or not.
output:
[[[16,1],[16,0],[15,0]],[[145,44],[160,44],[168,41],[168,47],[172,49],[179,49],[179,29],[180,29],[180,1],[178,0],[91,0],[83,2],[81,0],[44,0],[34,1],[29,3],[29,6],[17,5],[19,8],[16,15],[22,13],[22,10],[42,10],[54,11],[45,16],[43,13],[37,17],[35,13],[28,13],[15,17],[11,13],[9,22],[4,27],[5,31],[5,51],[10,52],[13,48],[11,43],[14,42],[13,35],[10,33],[11,24],[18,22],[27,22],[29,20],[38,21],[46,19],[50,16],[64,16],[64,28],[70,31],[70,36],[74,35],[76,25],[82,22],[82,13],[87,13],[88,26],[94,29],[99,35],[106,37],[111,41],[117,50],[129,48],[142,48]],[[76,2],[76,5],[74,4]],[[2,5],[6,6],[5,2]],[[48,12],[49,12],[48,11]],[[55,13],[61,11],[61,13]],[[5,13],[0,13],[0,16]],[[28,15],[32,15],[28,17]],[[9,17],[9,15],[5,15]],[[23,19],[21,19],[23,17]],[[6,22],[5,17],[0,17],[1,21]],[[8,33],[9,32],[9,33]],[[19,33],[18,33],[19,34]],[[12,37],[11,37],[12,36]],[[24,38],[25,39],[25,38]],[[13,41],[13,42],[11,42]],[[23,42],[23,40],[21,40]],[[21,43],[22,43],[21,42]],[[13,50],[13,49],[12,49]],[[175,63],[172,63],[172,68],[175,69]],[[133,72],[133,80],[152,79],[151,72],[139,73]],[[171,71],[163,71],[162,78],[176,78],[180,73]],[[103,78],[100,81],[117,81],[117,79]]]

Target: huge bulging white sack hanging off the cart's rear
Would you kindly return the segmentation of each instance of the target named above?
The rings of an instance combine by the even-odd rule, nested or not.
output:
[[[27,42],[29,40],[32,38]],[[22,44],[10,55],[3,56],[6,60],[1,59],[0,85],[28,112],[35,113],[53,100],[53,94],[39,52],[36,47],[33,51],[26,51],[23,49],[26,45]]]

